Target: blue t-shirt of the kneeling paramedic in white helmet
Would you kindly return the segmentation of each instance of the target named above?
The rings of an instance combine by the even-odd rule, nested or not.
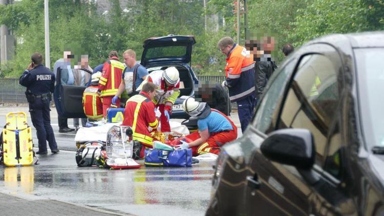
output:
[[[214,111],[210,112],[205,119],[199,119],[197,126],[199,127],[199,131],[205,131],[205,129],[208,128],[209,133],[233,129],[231,123],[223,115]]]

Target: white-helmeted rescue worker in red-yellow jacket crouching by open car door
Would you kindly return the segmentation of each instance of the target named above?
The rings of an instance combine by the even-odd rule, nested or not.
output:
[[[103,105],[97,93],[101,72],[92,74],[91,85],[84,90],[82,106],[87,118],[100,120],[103,117]]]

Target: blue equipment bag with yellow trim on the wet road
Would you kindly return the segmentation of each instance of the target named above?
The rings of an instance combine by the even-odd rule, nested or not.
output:
[[[192,149],[145,149],[145,166],[192,166]]]

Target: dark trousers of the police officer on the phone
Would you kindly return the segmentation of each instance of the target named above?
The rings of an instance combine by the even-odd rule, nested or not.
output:
[[[47,151],[47,141],[51,150],[57,149],[55,134],[51,126],[51,117],[48,97],[36,98],[33,103],[29,103],[32,124],[36,128],[39,151]]]

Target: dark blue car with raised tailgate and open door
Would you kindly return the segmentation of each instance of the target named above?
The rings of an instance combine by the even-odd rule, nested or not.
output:
[[[168,35],[164,37],[148,38],[143,43],[141,64],[151,73],[155,70],[165,70],[176,67],[180,74],[180,96],[172,108],[171,118],[188,119],[189,116],[182,109],[182,96],[194,96],[194,85],[198,79],[190,67],[192,47],[196,44],[194,36]],[[83,69],[80,69],[83,70]],[[87,73],[90,71],[83,70]],[[56,80],[60,80],[57,71]],[[61,84],[56,82],[55,104],[56,110],[62,117],[86,118],[82,108],[82,93],[86,87]]]

